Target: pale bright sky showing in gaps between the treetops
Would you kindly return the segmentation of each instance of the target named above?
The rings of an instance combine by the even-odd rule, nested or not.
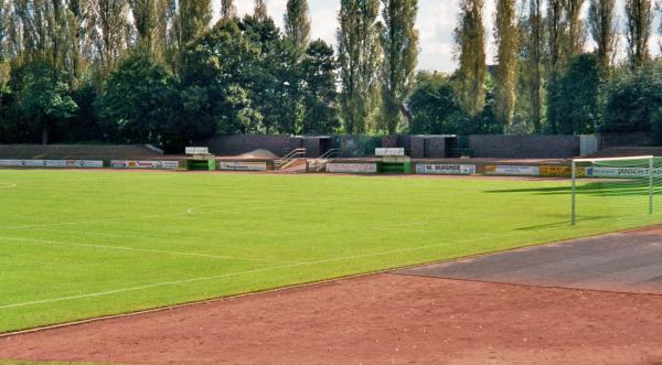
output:
[[[213,0],[216,14],[221,0]],[[617,0],[619,8],[622,8],[622,0]],[[279,26],[282,26],[282,14],[285,13],[287,0],[267,0],[269,14],[276,20]],[[335,31],[338,28],[339,0],[308,0],[310,7],[310,17],[312,19],[312,36],[321,37],[324,41],[335,44]],[[235,0],[237,11],[241,14],[252,12],[254,0]],[[419,31],[418,56],[419,69],[452,71],[456,64],[452,60],[452,32],[457,23],[459,13],[459,0],[419,0],[419,10],[417,28]],[[585,3],[585,10],[588,8],[588,0]],[[488,32],[488,55],[493,57],[494,45],[492,39],[492,19],[494,12],[494,0],[485,0],[485,29]],[[659,24],[655,21],[655,26]],[[622,20],[621,20],[622,23]],[[655,28],[656,29],[656,28]],[[659,53],[662,39],[655,35],[651,42],[651,49],[654,54]],[[620,42],[621,46],[626,44],[624,39]],[[587,42],[587,47],[592,45]],[[491,61],[491,60],[489,60]]]

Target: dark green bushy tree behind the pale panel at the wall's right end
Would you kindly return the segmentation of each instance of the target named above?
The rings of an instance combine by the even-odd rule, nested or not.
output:
[[[559,133],[588,135],[596,131],[599,121],[600,75],[596,55],[580,54],[570,60],[558,79],[558,92],[549,99],[559,116]]]

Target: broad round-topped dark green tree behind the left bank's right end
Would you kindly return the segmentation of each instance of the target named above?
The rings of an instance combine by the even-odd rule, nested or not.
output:
[[[149,54],[136,53],[110,73],[96,108],[110,141],[169,146],[178,138],[174,78]]]

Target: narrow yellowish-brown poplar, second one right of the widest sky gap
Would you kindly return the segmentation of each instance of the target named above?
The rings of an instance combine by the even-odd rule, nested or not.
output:
[[[517,23],[515,0],[496,2],[495,40],[498,44],[494,114],[498,120],[509,126],[516,103],[517,84]]]

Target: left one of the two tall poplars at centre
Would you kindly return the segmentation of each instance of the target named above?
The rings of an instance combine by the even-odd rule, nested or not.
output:
[[[380,0],[340,2],[340,104],[348,133],[366,132],[375,108],[381,64],[378,14]]]

